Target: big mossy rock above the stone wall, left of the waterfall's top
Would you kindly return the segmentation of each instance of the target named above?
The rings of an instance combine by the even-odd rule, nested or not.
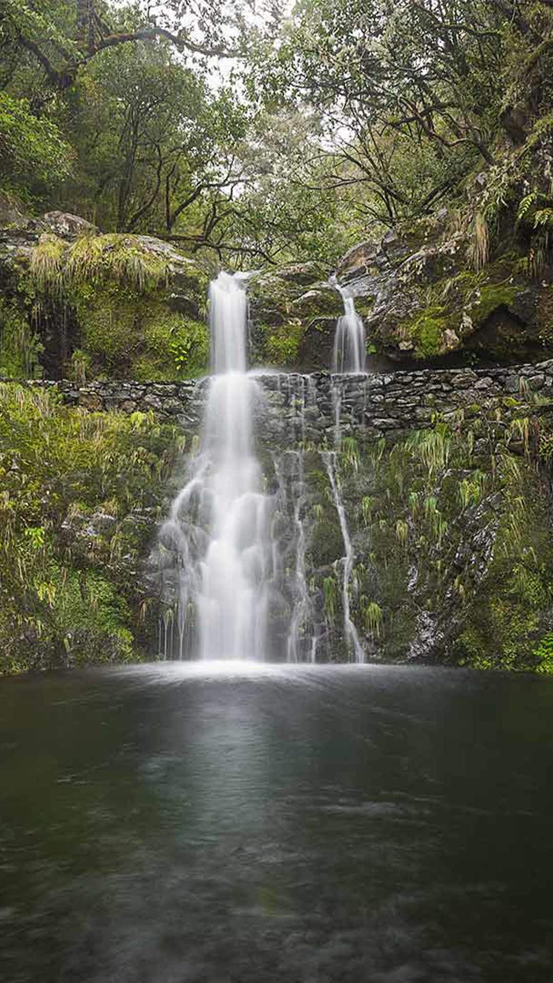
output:
[[[9,245],[8,258],[0,257],[11,323],[17,316],[27,325],[19,332],[26,338],[27,374],[36,374],[40,345],[51,377],[180,379],[204,373],[209,270],[154,237],[101,235],[76,216],[56,215],[49,224],[51,215],[35,221],[35,228],[30,220],[25,236],[18,233]],[[7,325],[0,340],[2,362],[11,375],[22,376],[13,353],[8,358],[9,331],[14,333]]]

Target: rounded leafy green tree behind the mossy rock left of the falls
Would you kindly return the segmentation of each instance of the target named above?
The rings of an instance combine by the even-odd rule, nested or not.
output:
[[[72,195],[103,226],[184,235],[191,212],[197,226],[213,193],[228,197],[241,179],[247,112],[228,90],[206,87],[165,43],[104,51],[81,71],[75,99],[70,126],[81,166]]]

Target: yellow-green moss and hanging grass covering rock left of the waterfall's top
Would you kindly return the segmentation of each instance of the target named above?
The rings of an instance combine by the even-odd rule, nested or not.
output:
[[[39,309],[54,324],[65,323],[68,309],[75,312],[72,344],[90,359],[89,377],[179,379],[206,371],[208,329],[198,318],[206,277],[177,254],[174,269],[164,256],[139,237],[118,234],[71,244],[43,236],[31,251]],[[175,283],[186,297],[173,295]]]

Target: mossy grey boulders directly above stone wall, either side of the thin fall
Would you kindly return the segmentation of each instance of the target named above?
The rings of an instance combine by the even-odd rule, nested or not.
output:
[[[354,247],[336,274],[364,319],[369,355],[416,365],[506,364],[551,354],[551,271],[528,275],[516,246],[511,241],[475,269],[469,237],[444,209],[410,233]],[[329,366],[341,302],[319,274],[310,279],[309,266],[295,267],[252,280],[260,360],[305,371]]]

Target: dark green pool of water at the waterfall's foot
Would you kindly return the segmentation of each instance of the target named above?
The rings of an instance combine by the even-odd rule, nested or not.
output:
[[[0,682],[4,983],[553,980],[553,684]]]

